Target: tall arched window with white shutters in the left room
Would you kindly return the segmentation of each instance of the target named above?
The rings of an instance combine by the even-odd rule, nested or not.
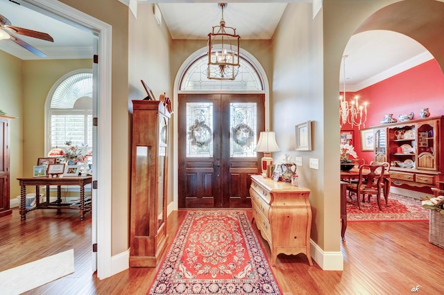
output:
[[[48,142],[46,152],[56,147],[88,145],[92,148],[92,71],[68,73],[60,78],[46,103]],[[51,95],[52,93],[52,95]]]

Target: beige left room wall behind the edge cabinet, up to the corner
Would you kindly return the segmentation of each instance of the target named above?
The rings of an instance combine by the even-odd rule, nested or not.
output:
[[[8,116],[17,117],[10,125],[10,198],[12,199],[20,195],[17,177],[22,177],[23,171],[23,69],[22,60],[3,51],[0,51],[0,64],[0,109]]]

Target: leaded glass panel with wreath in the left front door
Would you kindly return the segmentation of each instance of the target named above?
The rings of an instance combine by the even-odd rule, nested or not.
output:
[[[213,157],[213,103],[187,102],[187,157]]]

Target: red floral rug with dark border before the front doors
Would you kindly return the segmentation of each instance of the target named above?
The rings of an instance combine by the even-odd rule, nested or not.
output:
[[[244,211],[190,211],[147,294],[282,294]]]

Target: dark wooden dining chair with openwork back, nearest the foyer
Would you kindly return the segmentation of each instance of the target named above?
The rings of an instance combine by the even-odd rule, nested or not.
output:
[[[379,210],[382,210],[381,202],[379,199],[382,191],[384,170],[385,166],[383,165],[362,165],[359,168],[359,176],[357,184],[348,184],[347,189],[350,192],[355,193],[357,196],[359,210],[362,210],[361,195],[363,202],[365,200],[366,195],[368,195],[368,201],[370,201],[371,195],[376,195],[377,206],[379,207]]]

